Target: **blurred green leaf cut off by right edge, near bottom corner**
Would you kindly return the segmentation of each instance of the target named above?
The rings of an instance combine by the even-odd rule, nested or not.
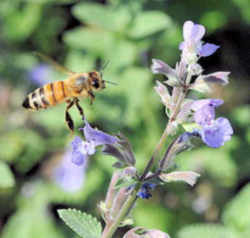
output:
[[[227,226],[239,231],[250,227],[250,184],[246,185],[240,193],[227,204],[222,219]]]

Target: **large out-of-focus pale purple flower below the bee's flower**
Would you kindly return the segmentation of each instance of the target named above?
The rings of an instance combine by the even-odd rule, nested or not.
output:
[[[52,178],[55,183],[67,192],[76,192],[84,184],[87,163],[81,166],[71,161],[71,150],[67,150],[60,163],[53,169]]]

